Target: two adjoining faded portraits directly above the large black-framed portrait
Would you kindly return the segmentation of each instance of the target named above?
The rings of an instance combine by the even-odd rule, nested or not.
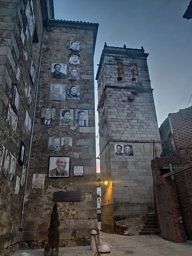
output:
[[[72,138],[71,137],[49,137],[48,149],[54,151],[71,150]]]

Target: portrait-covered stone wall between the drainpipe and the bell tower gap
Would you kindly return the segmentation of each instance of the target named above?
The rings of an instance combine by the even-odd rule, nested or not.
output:
[[[97,230],[97,194],[96,194],[96,149],[95,149],[95,112],[93,81],[93,29],[97,25],[76,22],[50,22],[44,30],[43,52],[35,114],[34,134],[32,141],[31,161],[24,208],[24,222],[21,240],[30,247],[42,246],[47,240],[52,211],[53,192],[80,191],[80,201],[58,202],[58,214],[61,222],[60,239],[65,245],[76,244],[76,237],[83,235],[88,239],[90,230]],[[80,64],[69,64],[70,41],[80,42]],[[67,64],[65,78],[51,77],[52,63]],[[80,69],[80,79],[69,79],[69,69]],[[65,100],[49,100],[50,84],[61,84],[65,87]],[[68,99],[70,85],[78,85],[80,99]],[[42,108],[55,109],[55,123],[41,124]],[[60,125],[60,109],[73,110],[73,124]],[[88,112],[88,125],[75,125],[75,111]],[[72,117],[72,116],[71,116]],[[72,148],[50,151],[49,137],[71,137]],[[61,145],[60,145],[61,146]],[[70,157],[69,177],[48,177],[49,156]],[[73,166],[84,166],[84,176],[73,177]],[[32,188],[33,175],[44,175],[44,186]],[[75,231],[74,231],[75,230]],[[73,240],[72,240],[73,239]],[[64,245],[63,244],[63,245]]]

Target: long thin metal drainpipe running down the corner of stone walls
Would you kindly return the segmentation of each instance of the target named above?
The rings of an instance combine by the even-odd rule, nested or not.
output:
[[[24,204],[25,204],[26,184],[27,184],[27,176],[28,176],[28,171],[29,171],[29,161],[30,161],[30,156],[31,156],[31,145],[32,145],[34,122],[35,122],[35,109],[36,109],[36,105],[37,105],[37,95],[38,95],[38,86],[39,86],[39,74],[40,74],[40,66],[41,66],[43,39],[44,39],[44,27],[43,27],[42,40],[41,40],[41,50],[40,50],[39,68],[38,68],[38,80],[37,80],[37,87],[36,87],[36,92],[35,92],[35,105],[34,105],[34,113],[33,113],[31,139],[30,139],[30,144],[29,144],[29,156],[28,156],[28,161],[27,161],[27,170],[26,170],[25,186],[24,186],[23,201],[22,201],[22,210],[21,210],[21,217],[20,217],[20,230],[23,229],[23,213],[24,213]]]

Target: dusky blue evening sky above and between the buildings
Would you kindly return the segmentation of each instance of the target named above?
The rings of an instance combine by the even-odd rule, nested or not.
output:
[[[94,76],[105,42],[145,49],[158,125],[186,108],[192,94],[192,19],[183,18],[190,0],[54,0],[55,19],[99,23]],[[97,83],[95,81],[95,87]],[[95,88],[97,105],[97,89]],[[192,99],[189,106],[192,105]],[[97,128],[98,119],[96,119]],[[96,134],[98,130],[96,130]],[[97,155],[98,151],[98,140]]]

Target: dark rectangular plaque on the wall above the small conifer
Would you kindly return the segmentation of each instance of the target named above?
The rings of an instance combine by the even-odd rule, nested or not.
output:
[[[81,192],[80,191],[58,191],[53,192],[53,202],[62,202],[62,201],[81,201]]]

